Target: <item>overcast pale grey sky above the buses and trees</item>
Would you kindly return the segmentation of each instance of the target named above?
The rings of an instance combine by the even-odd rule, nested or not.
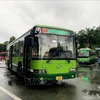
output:
[[[100,25],[99,0],[0,0],[0,43],[34,25],[80,31]]]

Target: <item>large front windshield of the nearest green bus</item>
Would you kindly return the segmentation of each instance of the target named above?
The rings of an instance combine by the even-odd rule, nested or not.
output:
[[[74,58],[73,37],[39,34],[39,52],[41,59]]]

